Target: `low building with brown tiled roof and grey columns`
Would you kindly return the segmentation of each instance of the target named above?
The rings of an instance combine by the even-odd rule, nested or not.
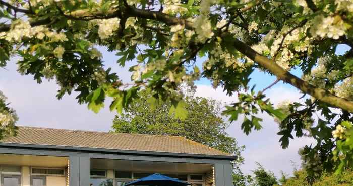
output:
[[[158,172],[231,185],[237,157],[184,137],[19,127],[0,140],[1,186],[122,186]]]

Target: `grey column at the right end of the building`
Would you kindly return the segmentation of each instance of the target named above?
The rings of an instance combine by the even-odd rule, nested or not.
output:
[[[232,181],[232,168],[229,164],[214,164],[214,182],[215,186],[231,186]]]

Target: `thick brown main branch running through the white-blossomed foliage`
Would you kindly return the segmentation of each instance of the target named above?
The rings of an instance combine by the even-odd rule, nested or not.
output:
[[[261,2],[261,1],[260,1]],[[92,15],[92,13],[87,13],[87,12],[82,12],[82,14],[74,14],[78,15],[79,17],[76,17],[71,14],[71,16],[74,16],[77,19],[81,18],[94,18],[96,15]],[[151,20],[156,20],[163,22],[167,25],[185,25],[185,28],[194,30],[193,23],[190,21],[187,21],[185,19],[180,19],[176,17],[169,16],[167,14],[158,12],[158,11],[150,11],[150,10],[141,10],[137,9],[134,7],[127,7],[126,10],[127,17],[139,17],[139,18],[145,18],[145,19],[151,19]],[[99,15],[99,12],[97,12]],[[83,17],[80,17],[80,15]],[[102,16],[103,14],[100,14],[99,16]],[[106,17],[117,17],[119,14],[117,14],[116,10],[109,11],[108,14],[104,14]],[[31,23],[31,26],[38,26],[38,25],[45,25],[50,23],[50,18],[35,21]],[[4,25],[0,27],[0,32],[3,31],[9,31],[10,30],[10,25]],[[337,97],[330,92],[328,92],[325,89],[322,88],[317,88],[308,82],[304,81],[301,78],[298,78],[297,76],[289,73],[288,71],[282,69],[279,65],[275,63],[274,60],[268,59],[267,57],[264,57],[260,54],[258,54],[255,50],[251,49],[247,44],[243,43],[240,40],[235,40],[233,42],[234,48],[236,48],[238,51],[240,51],[242,54],[245,56],[249,57],[251,60],[255,61],[258,63],[260,66],[264,67],[268,71],[270,71],[272,74],[276,75],[278,79],[291,84],[294,87],[297,87],[300,89],[303,93],[309,94],[318,100],[328,103],[332,105],[333,107],[341,108],[343,110],[346,110],[350,113],[353,113],[353,102],[348,101],[346,99]]]

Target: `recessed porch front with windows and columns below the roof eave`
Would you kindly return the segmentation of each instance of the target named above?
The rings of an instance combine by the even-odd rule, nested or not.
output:
[[[0,154],[0,181],[2,186],[123,186],[157,172],[193,186],[225,186],[224,165],[221,164],[207,163],[207,160],[134,157],[3,153]]]

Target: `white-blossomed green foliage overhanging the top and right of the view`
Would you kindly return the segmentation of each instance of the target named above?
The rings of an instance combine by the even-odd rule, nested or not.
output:
[[[58,99],[76,91],[95,112],[111,97],[110,109],[122,113],[147,87],[180,119],[187,112],[178,87],[208,78],[239,95],[223,114],[245,116],[246,134],[260,130],[258,114],[268,113],[280,122],[283,148],[293,135],[317,141],[301,154],[309,174],[339,173],[353,162],[352,12],[349,0],[0,0],[0,67],[16,55],[21,74],[38,83],[55,79]],[[340,45],[348,46],[343,54]],[[97,46],[116,53],[121,66],[137,61],[131,83],[103,68]],[[206,59],[202,69],[199,57]],[[278,80],[256,92],[249,87],[254,70]],[[275,108],[265,91],[278,81],[298,88],[301,102]]]

